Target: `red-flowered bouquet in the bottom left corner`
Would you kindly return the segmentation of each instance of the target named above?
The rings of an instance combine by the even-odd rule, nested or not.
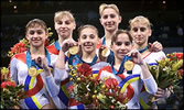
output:
[[[19,100],[25,98],[23,85],[15,86],[15,82],[10,79],[9,68],[1,68],[1,109],[18,109]]]

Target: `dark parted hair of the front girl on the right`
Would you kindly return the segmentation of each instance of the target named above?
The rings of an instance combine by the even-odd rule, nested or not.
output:
[[[127,31],[127,30],[118,30],[115,33],[115,35],[112,35],[112,37],[111,37],[111,44],[113,44],[117,41],[118,35],[122,34],[122,33],[127,34],[129,36],[130,42],[132,43],[133,38],[132,38],[131,34],[129,33],[129,31]]]

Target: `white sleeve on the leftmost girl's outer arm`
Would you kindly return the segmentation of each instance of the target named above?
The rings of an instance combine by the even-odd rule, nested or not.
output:
[[[19,85],[17,64],[18,64],[18,59],[12,58],[10,62],[10,78],[14,80],[17,85]]]

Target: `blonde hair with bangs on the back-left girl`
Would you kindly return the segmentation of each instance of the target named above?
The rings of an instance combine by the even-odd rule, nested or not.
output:
[[[69,20],[75,23],[74,15],[72,14],[71,11],[57,11],[57,12],[55,12],[55,14],[54,14],[54,22],[59,21],[64,16],[68,16]]]

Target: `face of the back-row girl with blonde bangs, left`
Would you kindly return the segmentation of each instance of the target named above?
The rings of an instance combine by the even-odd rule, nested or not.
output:
[[[71,37],[75,28],[75,22],[73,22],[67,15],[55,22],[55,30],[63,38]]]

